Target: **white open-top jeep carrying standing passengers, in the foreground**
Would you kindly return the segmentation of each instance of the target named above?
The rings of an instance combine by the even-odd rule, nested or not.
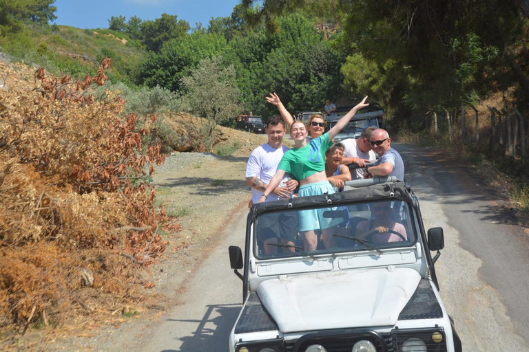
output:
[[[242,250],[229,248],[244,302],[229,351],[461,351],[435,276],[442,228],[424,230],[417,197],[401,181],[348,182],[365,184],[251,208],[244,263]],[[333,244],[306,252],[302,232],[282,231],[313,209],[333,224]]]

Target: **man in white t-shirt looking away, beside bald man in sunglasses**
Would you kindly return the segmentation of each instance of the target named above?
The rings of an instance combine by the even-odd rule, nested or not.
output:
[[[363,179],[364,167],[366,162],[373,162],[377,159],[377,155],[371,150],[370,138],[371,133],[377,129],[375,126],[370,126],[357,139],[349,138],[340,142],[344,146],[344,157],[342,164],[355,164],[357,169],[351,172],[351,179]]]

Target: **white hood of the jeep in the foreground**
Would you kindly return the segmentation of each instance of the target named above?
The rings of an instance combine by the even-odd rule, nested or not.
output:
[[[409,268],[281,276],[257,293],[283,333],[393,326],[420,278]]]

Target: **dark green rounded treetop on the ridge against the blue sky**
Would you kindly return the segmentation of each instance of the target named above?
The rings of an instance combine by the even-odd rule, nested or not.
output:
[[[154,21],[143,21],[140,28],[141,43],[153,52],[159,52],[167,41],[185,36],[190,29],[187,21],[178,21],[176,14],[165,13]]]

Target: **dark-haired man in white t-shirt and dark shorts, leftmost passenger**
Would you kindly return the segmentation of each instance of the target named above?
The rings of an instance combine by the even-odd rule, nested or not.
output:
[[[287,146],[282,145],[284,133],[287,132],[287,126],[280,116],[274,115],[269,118],[266,127],[268,142],[255,148],[248,159],[246,166],[246,184],[251,187],[251,199],[257,203],[264,190],[278,170],[279,162],[283,154],[289,150]],[[276,201],[281,198],[292,197],[293,190],[298,186],[298,181],[291,179],[290,175],[285,175],[278,187],[268,195],[266,201]],[[293,252],[295,245],[295,236],[298,234],[298,217],[293,212],[284,212],[278,214],[277,219],[272,217],[262,217],[262,221],[257,221],[259,239],[264,243],[265,254],[274,254],[277,252],[278,239],[281,239],[283,245],[292,247],[283,247],[283,252]]]

